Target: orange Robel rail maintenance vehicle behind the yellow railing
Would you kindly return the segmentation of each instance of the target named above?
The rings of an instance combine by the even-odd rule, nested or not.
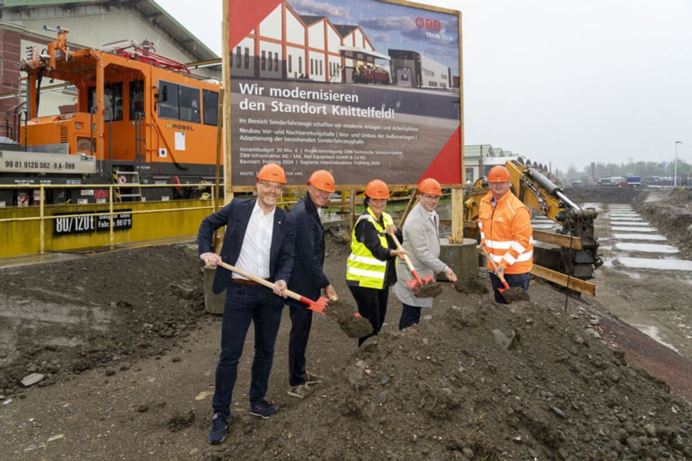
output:
[[[57,29],[47,53],[30,48],[21,63],[28,74],[27,120],[17,144],[0,147],[0,201],[17,205],[37,185],[120,183],[113,200],[188,198],[199,189],[179,184],[212,182],[217,158],[219,84],[189,76],[187,66],[154,52],[152,44],[123,41],[71,50],[68,30]],[[44,79],[77,89],[65,113],[37,116]],[[61,107],[64,111],[64,106]],[[171,187],[140,188],[157,184]],[[46,189],[46,203],[94,203],[108,189],[94,187],[84,200],[76,188]]]

